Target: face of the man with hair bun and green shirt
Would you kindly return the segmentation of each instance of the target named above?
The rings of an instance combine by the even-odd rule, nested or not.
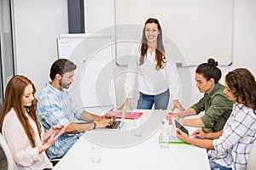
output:
[[[212,88],[214,88],[215,83],[213,78],[210,78],[209,81],[203,75],[195,73],[195,82],[196,87],[199,89],[201,93],[207,93],[209,94],[212,91]]]

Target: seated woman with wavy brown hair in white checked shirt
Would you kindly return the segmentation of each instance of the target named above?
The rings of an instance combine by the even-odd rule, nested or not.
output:
[[[230,71],[225,77],[224,94],[236,101],[223,131],[203,133],[196,130],[190,139],[177,130],[177,138],[210,150],[208,156],[212,169],[245,170],[249,151],[256,139],[256,82],[247,69]]]

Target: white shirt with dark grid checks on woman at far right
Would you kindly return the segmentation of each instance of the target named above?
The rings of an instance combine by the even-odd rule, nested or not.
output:
[[[234,104],[233,111],[224,126],[223,134],[213,140],[215,150],[210,150],[210,161],[224,167],[243,170],[247,167],[247,158],[256,138],[256,115],[252,108]]]

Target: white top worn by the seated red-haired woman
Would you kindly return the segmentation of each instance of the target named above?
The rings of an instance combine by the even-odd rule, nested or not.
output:
[[[32,121],[32,118],[28,115],[29,122],[33,129],[37,129],[36,123]],[[43,126],[41,136],[43,137]],[[38,147],[32,148],[29,140],[26,137],[26,133],[20,124],[15,110],[11,109],[9,113],[4,117],[2,127],[3,139],[9,145],[9,150],[16,163],[16,169],[44,169],[52,168],[52,164],[46,156],[45,152],[38,154]],[[36,145],[42,145],[39,138],[38,130],[35,130]]]

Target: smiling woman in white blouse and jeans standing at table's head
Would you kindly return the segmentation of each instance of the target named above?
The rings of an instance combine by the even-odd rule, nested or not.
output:
[[[158,20],[149,18],[143,28],[142,42],[132,49],[125,79],[125,102],[131,108],[135,79],[138,81],[139,99],[137,109],[166,110],[170,94],[173,109],[183,110],[179,103],[181,84],[177,67],[166,56],[162,29]]]

